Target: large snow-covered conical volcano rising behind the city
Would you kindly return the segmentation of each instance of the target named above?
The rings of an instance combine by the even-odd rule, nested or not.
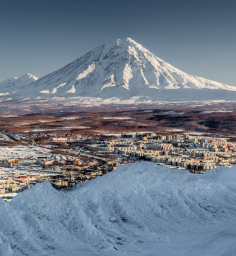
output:
[[[110,102],[115,99],[175,101],[178,97],[186,101],[205,97],[214,100],[236,99],[236,87],[188,75],[127,38],[103,44],[31,83],[15,83],[12,87],[0,83],[0,96],[13,99],[92,97],[110,99]]]

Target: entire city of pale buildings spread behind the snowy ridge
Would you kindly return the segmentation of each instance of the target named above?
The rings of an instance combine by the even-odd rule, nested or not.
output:
[[[45,137],[48,145],[36,142],[37,138]],[[24,142],[24,145],[0,146],[0,197],[10,201],[18,193],[45,181],[52,182],[56,189],[68,188],[134,161],[152,161],[193,173],[204,173],[218,166],[230,167],[236,161],[236,144],[219,138],[122,132],[115,140],[99,139],[98,136],[71,138],[50,133],[22,136],[2,132],[0,140]],[[59,149],[50,143],[54,141],[71,148]]]

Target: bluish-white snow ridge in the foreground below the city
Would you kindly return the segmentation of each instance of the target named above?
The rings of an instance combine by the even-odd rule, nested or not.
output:
[[[0,199],[0,255],[235,255],[236,168],[126,164],[69,192]]]

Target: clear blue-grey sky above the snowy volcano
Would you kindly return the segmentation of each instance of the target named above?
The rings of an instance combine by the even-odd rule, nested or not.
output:
[[[47,75],[131,37],[180,70],[236,86],[236,1],[0,1],[0,81]]]

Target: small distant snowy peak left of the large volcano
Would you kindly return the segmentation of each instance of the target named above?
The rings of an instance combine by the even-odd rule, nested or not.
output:
[[[38,80],[38,78],[31,74],[25,74],[24,76],[18,78],[11,77],[9,79],[6,79],[0,83],[0,95],[12,95],[13,93],[19,95],[20,87],[31,84],[36,80]]]

